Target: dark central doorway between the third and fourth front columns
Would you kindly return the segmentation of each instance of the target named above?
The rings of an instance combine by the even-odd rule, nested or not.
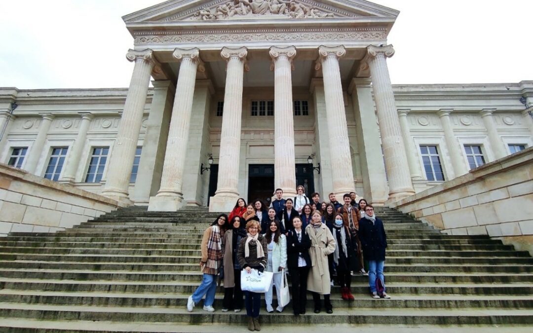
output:
[[[270,206],[274,192],[274,165],[251,164],[248,166],[248,201],[261,199]]]

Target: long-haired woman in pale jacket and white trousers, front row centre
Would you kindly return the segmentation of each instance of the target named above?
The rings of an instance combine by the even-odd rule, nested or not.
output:
[[[268,230],[265,233],[265,239],[268,243],[268,265],[267,272],[273,272],[274,278],[270,289],[265,293],[266,312],[274,312],[272,307],[272,287],[276,286],[276,295],[278,296],[278,307],[276,311],[282,312],[283,306],[279,304],[281,279],[283,278],[282,270],[287,267],[287,239],[281,233],[278,221],[271,221]]]

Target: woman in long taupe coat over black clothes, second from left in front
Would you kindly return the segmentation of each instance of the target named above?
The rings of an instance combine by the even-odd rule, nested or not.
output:
[[[230,220],[231,229],[224,233],[222,239],[224,249],[224,300],[222,312],[234,310],[240,312],[243,308],[243,290],[240,289],[240,271],[242,270],[237,260],[239,242],[246,237],[244,218],[234,216]]]

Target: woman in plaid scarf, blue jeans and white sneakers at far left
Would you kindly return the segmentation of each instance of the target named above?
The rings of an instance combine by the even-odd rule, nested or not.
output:
[[[220,214],[204,232],[201,241],[200,267],[204,273],[195,292],[187,299],[187,311],[192,312],[195,304],[205,295],[204,310],[214,312],[216,277],[222,267],[222,238],[228,229],[228,215]]]

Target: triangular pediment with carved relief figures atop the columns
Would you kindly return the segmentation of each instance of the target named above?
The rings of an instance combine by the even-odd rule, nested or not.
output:
[[[126,15],[128,23],[395,18],[398,11],[365,0],[170,0]]]

